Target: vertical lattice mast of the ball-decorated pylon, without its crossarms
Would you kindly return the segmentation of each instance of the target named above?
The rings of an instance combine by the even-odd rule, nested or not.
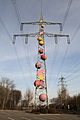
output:
[[[36,106],[47,105],[48,106],[48,93],[46,83],[46,59],[45,55],[45,39],[44,39],[44,24],[42,24],[43,18],[40,19],[39,33],[38,33],[38,61],[36,63],[37,74],[36,81],[34,82],[37,98]]]

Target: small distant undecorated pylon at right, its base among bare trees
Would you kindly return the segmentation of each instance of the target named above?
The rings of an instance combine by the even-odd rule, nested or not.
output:
[[[58,96],[59,96],[61,105],[64,105],[65,100],[67,98],[67,88],[66,88],[67,84],[66,84],[64,77],[61,76],[61,78],[59,78],[59,80],[60,81],[58,82],[58,85],[60,86],[60,89],[59,89]]]

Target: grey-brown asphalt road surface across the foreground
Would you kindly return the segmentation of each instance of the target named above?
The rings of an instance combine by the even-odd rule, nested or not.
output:
[[[23,111],[0,111],[0,120],[80,120],[80,115],[32,114]]]

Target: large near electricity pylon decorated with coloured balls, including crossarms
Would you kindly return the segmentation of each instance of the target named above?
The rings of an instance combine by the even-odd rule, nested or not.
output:
[[[60,31],[62,31],[62,23],[46,22],[41,16],[39,21],[36,22],[25,22],[21,23],[20,30],[23,30],[24,25],[38,25],[39,31],[30,34],[16,34],[13,36],[13,44],[15,44],[16,37],[25,37],[25,43],[28,43],[28,37],[38,37],[38,58],[36,63],[36,81],[35,85],[35,103],[36,105],[46,105],[48,106],[48,91],[47,91],[47,80],[46,80],[46,59],[45,55],[45,37],[54,37],[55,44],[57,44],[58,37],[67,37],[67,43],[70,44],[69,35],[64,34],[52,34],[44,31],[44,26],[46,25],[59,25]],[[43,50],[41,52],[41,50]],[[46,95],[46,96],[45,96]]]

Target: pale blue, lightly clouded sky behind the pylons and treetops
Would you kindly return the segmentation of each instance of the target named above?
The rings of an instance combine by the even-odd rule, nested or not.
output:
[[[12,1],[16,1],[16,8]],[[50,98],[57,96],[59,88],[57,85],[61,75],[66,78],[69,94],[78,94],[80,92],[80,0],[43,0],[42,3],[45,21],[63,23],[68,11],[62,33],[69,34],[71,39],[70,45],[67,44],[66,38],[59,38],[58,44],[55,45],[54,38],[45,38],[49,96]],[[15,46],[11,40],[14,34],[21,33],[19,22],[37,21],[40,19],[40,14],[40,0],[0,0],[0,77],[13,80],[16,88],[23,93],[27,88],[34,90],[37,38],[29,38],[28,44],[25,45],[24,38],[19,37]],[[22,33],[35,33],[38,29],[38,26],[25,25]],[[59,27],[45,26],[45,31],[59,33]]]

